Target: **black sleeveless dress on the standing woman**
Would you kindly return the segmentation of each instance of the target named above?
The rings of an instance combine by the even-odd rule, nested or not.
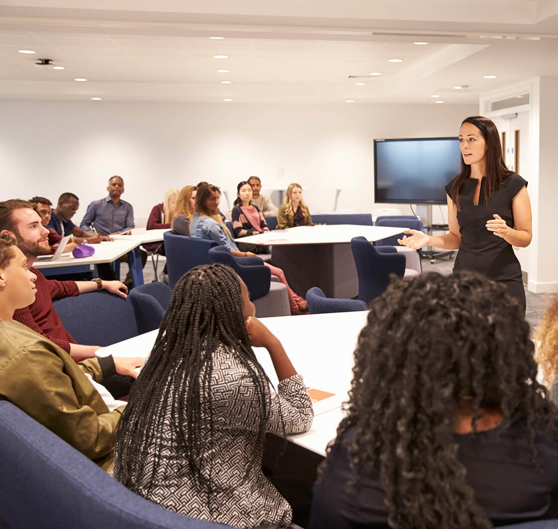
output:
[[[455,180],[455,179],[454,179]],[[451,186],[454,180],[445,186],[451,198]],[[525,314],[525,288],[521,276],[521,266],[513,252],[512,245],[497,237],[486,228],[487,220],[493,220],[494,213],[513,228],[512,201],[527,186],[527,181],[518,174],[510,173],[490,198],[484,201],[484,185],[486,178],[480,181],[479,204],[473,204],[473,194],[477,180],[468,178],[461,188],[461,210],[457,212],[457,220],[461,232],[461,246],[455,258],[454,272],[471,270],[483,273],[490,279],[504,283],[509,294],[514,296]]]

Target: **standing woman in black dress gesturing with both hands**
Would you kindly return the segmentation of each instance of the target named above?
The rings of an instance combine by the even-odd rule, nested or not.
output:
[[[429,236],[407,230],[411,236],[398,242],[415,249],[427,245],[459,249],[454,272],[477,271],[504,283],[525,314],[521,266],[512,247],[531,242],[527,181],[506,168],[498,129],[490,119],[464,119],[459,142],[461,172],[445,187],[449,233]]]

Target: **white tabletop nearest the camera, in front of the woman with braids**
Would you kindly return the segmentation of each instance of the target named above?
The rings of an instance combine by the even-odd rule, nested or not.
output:
[[[288,436],[293,443],[325,455],[326,445],[335,437],[337,425],[343,417],[341,402],[348,399],[353,352],[367,315],[367,311],[362,311],[261,319],[281,340],[306,386],[335,393],[330,402],[326,399],[315,404],[314,423],[309,431]],[[100,349],[98,355],[147,357],[157,333],[154,330],[109,345]],[[277,376],[267,350],[254,348],[254,352],[273,385],[277,386]]]

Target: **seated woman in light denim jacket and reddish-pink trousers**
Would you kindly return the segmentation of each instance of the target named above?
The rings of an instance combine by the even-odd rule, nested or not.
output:
[[[219,215],[219,195],[221,191],[219,187],[214,185],[202,185],[198,187],[196,192],[195,214],[190,223],[190,237],[198,239],[211,239],[218,242],[222,246],[226,246],[233,256],[247,257],[255,256],[252,252],[241,252],[238,246],[231,238],[228,228],[225,226],[223,219]],[[271,274],[279,278],[279,281],[287,287],[288,302],[291,309],[291,315],[306,314],[308,304],[306,300],[288,286],[285,274],[281,268],[263,263],[271,269]]]

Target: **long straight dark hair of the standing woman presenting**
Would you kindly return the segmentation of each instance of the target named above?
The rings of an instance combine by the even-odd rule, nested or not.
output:
[[[490,197],[497,191],[502,182],[506,180],[510,171],[504,163],[502,156],[502,145],[500,144],[500,137],[498,136],[498,129],[491,119],[483,116],[471,116],[465,118],[462,122],[470,123],[477,127],[484,138],[487,147],[486,162],[487,174],[486,182],[484,184],[484,204],[487,204]],[[451,199],[453,200],[456,208],[461,209],[461,189],[463,182],[471,175],[471,166],[463,161],[461,156],[461,172],[456,176],[453,185],[451,186]]]

